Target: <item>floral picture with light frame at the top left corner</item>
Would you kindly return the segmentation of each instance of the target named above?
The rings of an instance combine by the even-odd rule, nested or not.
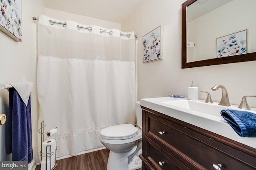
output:
[[[0,30],[22,42],[21,0],[0,0]]]

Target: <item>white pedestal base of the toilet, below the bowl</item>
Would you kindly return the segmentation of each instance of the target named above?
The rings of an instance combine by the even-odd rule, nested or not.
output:
[[[138,142],[136,144],[138,144]],[[141,168],[142,160],[138,157],[138,154],[141,154],[141,150],[141,141],[139,146],[135,145],[132,150],[126,153],[115,153],[110,150],[107,169],[136,170]]]

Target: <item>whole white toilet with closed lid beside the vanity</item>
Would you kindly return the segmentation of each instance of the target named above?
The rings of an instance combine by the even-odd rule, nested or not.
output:
[[[136,170],[142,160],[142,109],[135,102],[137,127],[132,124],[114,125],[100,131],[101,143],[110,150],[108,170]]]

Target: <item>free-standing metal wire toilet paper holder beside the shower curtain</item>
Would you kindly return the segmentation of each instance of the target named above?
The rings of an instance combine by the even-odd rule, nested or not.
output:
[[[46,146],[46,152],[45,153],[42,152],[42,143],[44,142],[44,135],[47,135],[47,133],[44,133],[44,127],[46,127],[46,125],[44,125],[44,121],[42,121],[41,122],[41,128],[38,129],[38,132],[41,133],[41,151],[40,151],[40,156],[41,156],[41,160],[42,160],[42,158],[46,158],[46,161],[47,161],[47,158],[50,157],[50,167],[47,167],[48,166],[48,164],[47,164],[48,162],[46,162],[46,170],[53,170],[54,168],[56,168],[57,163],[56,163],[56,154],[55,154],[54,167],[51,169],[52,155],[54,154],[54,152],[52,151],[52,146],[51,145],[47,145]],[[50,152],[47,152],[48,148],[50,148]],[[56,146],[56,150],[57,150],[57,146]],[[55,150],[55,153],[56,153],[56,150]]]

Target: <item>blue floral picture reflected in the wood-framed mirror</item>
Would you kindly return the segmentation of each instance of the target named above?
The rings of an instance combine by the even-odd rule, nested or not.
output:
[[[247,53],[247,30],[217,38],[217,58]]]

